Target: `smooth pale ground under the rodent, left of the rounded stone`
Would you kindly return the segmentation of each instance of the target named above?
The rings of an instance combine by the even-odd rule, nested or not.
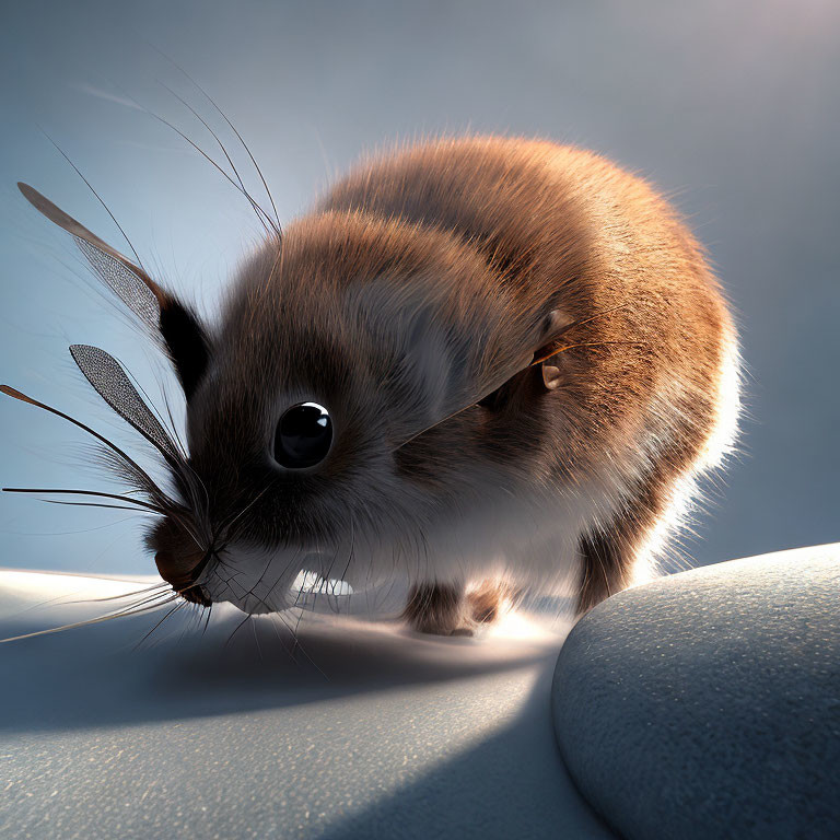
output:
[[[153,583],[0,572],[0,638]],[[555,743],[568,628],[430,639],[315,615],[293,649],[277,619],[228,641],[242,614],[201,634],[185,608],[138,648],[163,615],[0,645],[0,837],[612,837]]]

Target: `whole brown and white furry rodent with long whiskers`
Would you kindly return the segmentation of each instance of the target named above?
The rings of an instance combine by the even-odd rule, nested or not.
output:
[[[74,350],[173,471],[174,499],[120,467],[164,514],[148,545],[188,600],[282,610],[306,569],[408,578],[422,632],[469,632],[525,587],[565,585],[584,612],[652,573],[732,445],[737,336],[703,250],[592,152],[463,137],[373,155],[269,231],[213,320],[21,188],[184,387],[188,454],[167,453],[108,396],[109,357]]]

